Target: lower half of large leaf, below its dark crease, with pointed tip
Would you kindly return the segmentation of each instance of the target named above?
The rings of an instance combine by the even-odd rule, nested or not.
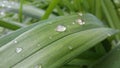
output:
[[[13,68],[34,68],[36,65],[43,68],[58,68],[107,38],[108,34],[114,33],[116,30],[96,28],[65,36],[37,51]]]

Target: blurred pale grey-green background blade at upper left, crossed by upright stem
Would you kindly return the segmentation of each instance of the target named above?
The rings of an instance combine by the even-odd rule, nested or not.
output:
[[[20,5],[16,2],[3,2],[3,1],[0,1],[1,4],[4,4],[4,7],[7,9],[6,11],[8,12],[16,12],[18,13],[19,12],[19,7]],[[13,4],[14,3],[14,4]],[[33,18],[40,18],[43,14],[44,14],[44,10],[42,9],[38,9],[36,7],[33,7],[33,6],[28,6],[28,5],[23,5],[23,14],[26,15],[26,16],[30,16],[30,17],[33,17]]]

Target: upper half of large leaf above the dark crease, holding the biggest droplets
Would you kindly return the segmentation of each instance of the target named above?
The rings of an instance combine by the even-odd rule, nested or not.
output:
[[[7,58],[8,53],[9,53],[9,56],[13,54],[14,56],[10,57],[9,59],[7,58],[7,61],[11,61],[15,57],[17,58],[16,60],[13,61],[13,63],[10,63],[10,64],[7,61],[2,62],[0,64],[0,67],[4,67],[4,66],[6,67],[5,64],[7,64],[7,67],[12,66],[17,62],[20,62],[21,60],[25,59],[25,57],[33,54],[37,50],[42,49],[46,45],[66,35],[69,35],[78,31],[83,31],[86,29],[103,27],[103,24],[91,14],[85,14],[84,18],[86,18],[84,25],[80,25],[78,22],[75,22],[78,19],[83,19],[79,15],[63,16],[60,19],[56,18],[56,19],[53,19],[52,21],[50,19],[46,21],[46,23],[44,23],[43,26],[41,26],[41,24],[39,25],[37,24],[37,26],[34,28],[29,27],[29,28],[32,28],[30,30],[29,28],[27,28],[26,31],[23,29],[24,31],[15,34],[16,36],[12,35],[14,38],[9,35],[9,37],[11,37],[12,39],[8,40],[7,42],[5,41],[5,38],[4,40],[2,40],[2,42],[5,42],[4,44],[6,45],[4,46],[2,45],[2,47],[0,48],[0,54],[1,54],[0,61],[3,61],[3,59]],[[63,33],[56,32],[55,29],[58,25],[66,26],[67,30]],[[31,42],[31,40],[33,39],[34,41],[32,41],[32,43],[28,43],[28,42]],[[37,47],[39,45],[42,45],[42,46]],[[15,51],[13,51],[14,49],[16,49],[16,47],[27,48],[27,50],[23,51],[23,53],[26,53],[26,54],[24,54],[24,56],[17,55]]]

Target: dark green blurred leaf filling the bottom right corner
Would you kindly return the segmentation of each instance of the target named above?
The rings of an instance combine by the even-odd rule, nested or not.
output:
[[[120,68],[120,45],[111,50],[90,68]]]

